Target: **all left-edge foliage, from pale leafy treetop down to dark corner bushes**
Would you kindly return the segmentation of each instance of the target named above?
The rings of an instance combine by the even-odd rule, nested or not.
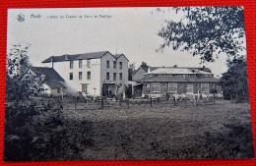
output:
[[[32,97],[42,88],[44,78],[30,70],[29,46],[14,45],[7,55],[4,160],[82,157],[84,149],[94,143],[92,123],[65,120],[58,98]]]

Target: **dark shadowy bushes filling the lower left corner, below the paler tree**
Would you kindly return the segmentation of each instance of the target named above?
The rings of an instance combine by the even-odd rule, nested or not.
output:
[[[94,145],[93,123],[66,119],[56,98],[34,104],[6,107],[4,160],[39,161],[83,158],[87,147]],[[45,107],[45,108],[44,108]]]

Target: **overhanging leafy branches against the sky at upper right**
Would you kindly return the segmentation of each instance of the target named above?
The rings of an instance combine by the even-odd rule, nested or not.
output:
[[[172,8],[183,14],[180,22],[166,21],[159,36],[164,42],[160,50],[174,50],[199,55],[201,63],[213,62],[221,53],[237,59],[244,47],[244,18],[242,7],[181,7]],[[158,9],[160,11],[160,9]]]

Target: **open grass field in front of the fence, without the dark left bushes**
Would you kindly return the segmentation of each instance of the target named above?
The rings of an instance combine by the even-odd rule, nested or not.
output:
[[[64,117],[93,124],[95,142],[82,159],[253,157],[248,103],[143,104],[129,109],[65,110]]]

